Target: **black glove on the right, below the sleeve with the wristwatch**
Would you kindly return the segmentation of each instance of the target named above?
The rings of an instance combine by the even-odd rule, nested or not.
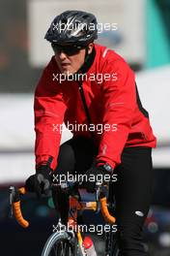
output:
[[[86,182],[83,182],[83,186],[89,193],[94,193],[97,186],[103,184],[108,184],[111,176],[113,174],[113,169],[108,164],[96,165],[90,168],[86,172]]]

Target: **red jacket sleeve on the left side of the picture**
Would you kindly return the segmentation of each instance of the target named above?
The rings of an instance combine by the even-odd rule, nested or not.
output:
[[[66,112],[63,95],[45,69],[35,92],[35,155],[36,165],[53,157],[51,168],[57,165],[61,127]]]

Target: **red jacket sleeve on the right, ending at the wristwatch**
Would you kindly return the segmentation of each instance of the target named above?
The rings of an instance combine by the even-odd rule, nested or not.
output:
[[[97,160],[105,161],[115,168],[121,163],[121,153],[128,140],[136,106],[135,79],[123,59],[107,63],[104,74],[116,74],[113,76],[116,80],[104,80],[102,84],[102,124],[107,129],[103,129]]]

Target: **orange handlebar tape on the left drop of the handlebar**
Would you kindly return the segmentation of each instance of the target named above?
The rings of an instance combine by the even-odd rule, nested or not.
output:
[[[26,193],[26,190],[24,187],[21,187],[18,189],[18,192],[22,195]],[[21,225],[23,228],[28,228],[29,222],[25,220],[22,216],[21,208],[20,208],[20,201],[13,203],[13,211],[14,211],[14,217],[19,225]]]

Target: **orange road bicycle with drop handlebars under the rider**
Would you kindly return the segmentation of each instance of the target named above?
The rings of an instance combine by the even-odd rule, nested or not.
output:
[[[53,184],[51,189],[55,189],[56,187],[60,187],[62,191],[67,192],[70,196],[69,219],[67,225],[62,224],[61,219],[59,219],[55,227],[55,232],[51,234],[43,246],[42,256],[86,256],[88,254],[86,248],[83,246],[83,232],[77,224],[78,212],[85,209],[96,212],[100,210],[105,222],[110,227],[113,226],[116,219],[108,210],[108,208],[111,208],[113,212],[114,208],[112,203],[107,204],[108,187],[102,186],[94,194],[87,193],[85,189],[78,188],[74,183]],[[12,215],[14,215],[19,225],[27,228],[29,222],[23,218],[20,208],[20,196],[24,194],[26,194],[24,187],[18,189],[14,186],[10,187]],[[91,199],[93,198],[93,201],[89,200],[89,196],[91,196]],[[116,225],[114,226],[116,227]],[[104,235],[104,256],[118,256],[119,248],[115,234],[113,232],[105,232]],[[97,253],[94,255],[97,255]]]

